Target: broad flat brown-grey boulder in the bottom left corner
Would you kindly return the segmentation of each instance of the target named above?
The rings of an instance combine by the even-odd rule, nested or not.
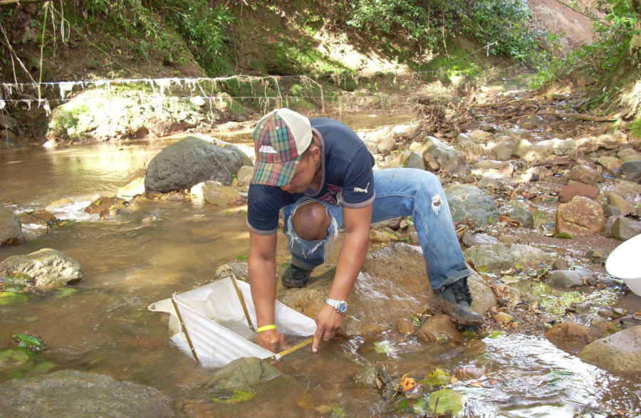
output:
[[[0,393],[4,417],[174,417],[159,390],[77,370],[9,380]]]

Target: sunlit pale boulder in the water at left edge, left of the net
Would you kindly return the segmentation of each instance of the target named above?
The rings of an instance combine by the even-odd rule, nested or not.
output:
[[[0,263],[0,284],[43,291],[82,281],[80,263],[54,249],[41,249],[26,256],[11,256]]]

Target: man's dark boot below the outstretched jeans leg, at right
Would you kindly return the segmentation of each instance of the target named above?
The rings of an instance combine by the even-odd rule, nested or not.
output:
[[[471,310],[471,294],[467,286],[467,277],[445,286],[443,289],[432,289],[437,308],[447,313],[455,323],[465,326],[476,326],[483,323],[483,317]]]

